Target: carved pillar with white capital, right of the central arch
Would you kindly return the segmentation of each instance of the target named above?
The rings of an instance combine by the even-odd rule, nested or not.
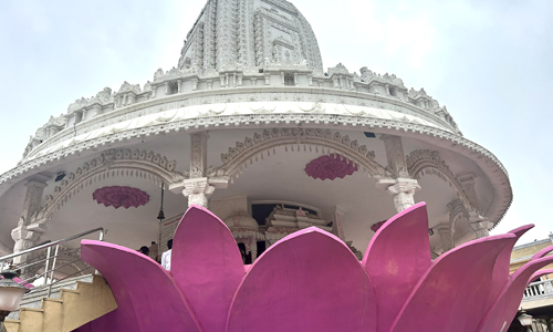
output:
[[[386,147],[387,169],[395,178],[380,179],[377,187],[386,188],[386,191],[394,196],[394,206],[396,211],[400,212],[415,205],[414,195],[420,190],[420,186],[416,179],[410,178],[407,170],[401,137],[383,135],[380,139]]]

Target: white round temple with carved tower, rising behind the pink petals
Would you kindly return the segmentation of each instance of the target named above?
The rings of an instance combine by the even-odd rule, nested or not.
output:
[[[361,260],[386,220],[425,201],[436,259],[507,212],[505,168],[445,105],[369,64],[324,68],[292,3],[210,0],[185,33],[174,68],[77,98],[31,136],[0,175],[0,252],[104,228],[158,259],[195,205],[227,225],[246,264],[310,227]],[[55,278],[93,271],[79,241],[60,250]]]

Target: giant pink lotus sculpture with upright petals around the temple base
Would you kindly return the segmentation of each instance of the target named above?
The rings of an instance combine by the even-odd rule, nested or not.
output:
[[[553,262],[543,258],[552,247],[509,274],[511,250],[530,228],[432,261],[418,204],[378,229],[362,262],[338,238],[307,228],[244,267],[227,226],[191,207],[175,234],[170,272],[134,250],[82,242],[118,309],[77,331],[505,331],[529,281]]]

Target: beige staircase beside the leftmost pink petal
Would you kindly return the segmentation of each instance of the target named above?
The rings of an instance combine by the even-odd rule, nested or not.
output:
[[[83,276],[27,294],[20,310],[4,322],[8,332],[71,332],[117,309],[109,286],[100,276]]]

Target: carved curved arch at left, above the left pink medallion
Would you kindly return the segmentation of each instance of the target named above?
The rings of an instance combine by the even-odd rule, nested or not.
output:
[[[181,181],[188,175],[175,172],[176,162],[169,162],[154,152],[131,151],[131,149],[108,149],[101,156],[83,164],[74,173],[67,174],[52,195],[45,197],[45,206],[35,212],[29,229],[43,231],[46,222],[52,218],[67,200],[79,194],[83,188],[108,177],[131,176],[140,177],[156,185],[161,181],[173,184]]]

